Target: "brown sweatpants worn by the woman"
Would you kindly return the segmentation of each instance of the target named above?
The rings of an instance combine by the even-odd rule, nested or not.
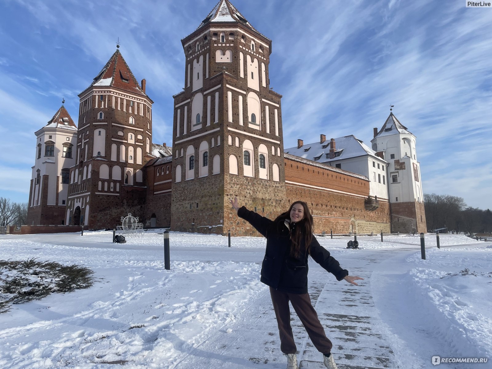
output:
[[[295,354],[297,351],[292,327],[290,326],[289,301],[303,323],[304,328],[306,328],[314,347],[323,354],[330,353],[333,344],[325,335],[325,330],[319,322],[318,314],[316,314],[316,310],[311,305],[309,294],[298,295],[280,292],[270,287],[270,295],[272,296],[272,303],[274,305],[275,315],[277,316],[280,350],[284,354]]]

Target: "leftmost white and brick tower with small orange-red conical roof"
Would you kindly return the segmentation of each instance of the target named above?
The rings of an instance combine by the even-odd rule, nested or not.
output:
[[[75,164],[77,126],[62,105],[35,135],[36,158],[32,166],[27,223],[65,224],[69,168]]]

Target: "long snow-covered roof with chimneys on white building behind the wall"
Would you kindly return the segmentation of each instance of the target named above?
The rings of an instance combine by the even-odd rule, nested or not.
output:
[[[354,135],[338,137],[335,139],[334,157],[330,157],[330,141],[325,141],[323,143],[318,141],[312,144],[303,145],[299,149],[295,146],[284,149],[284,153],[322,163],[363,155],[374,156],[379,160],[383,160],[376,155],[374,150],[370,149],[362,140],[359,140]]]

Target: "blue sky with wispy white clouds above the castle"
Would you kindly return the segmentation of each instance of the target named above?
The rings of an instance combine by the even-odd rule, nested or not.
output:
[[[425,193],[492,209],[492,8],[463,0],[233,0],[272,44],[284,146],[354,134],[370,147],[395,105],[417,137]],[[34,132],[78,97],[116,50],[154,100],[154,142],[172,143],[184,85],[181,38],[215,0],[2,0],[0,196],[27,201]]]

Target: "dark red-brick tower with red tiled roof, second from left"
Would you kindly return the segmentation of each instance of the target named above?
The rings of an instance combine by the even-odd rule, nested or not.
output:
[[[119,46],[118,46],[119,47]],[[144,214],[152,151],[152,104],[119,49],[79,94],[76,162],[70,170],[66,222],[113,228],[122,215]]]

